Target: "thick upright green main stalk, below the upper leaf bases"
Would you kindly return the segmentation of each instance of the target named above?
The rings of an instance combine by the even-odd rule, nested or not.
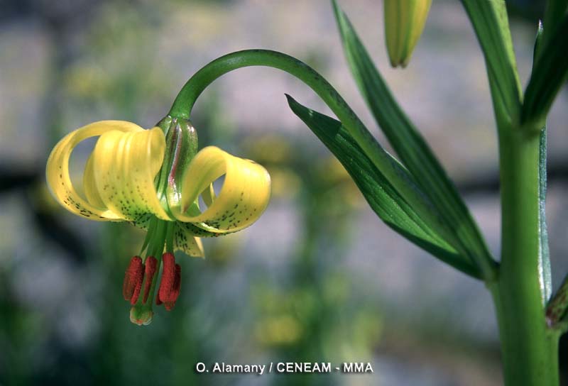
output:
[[[506,385],[558,385],[559,333],[547,327],[540,280],[538,134],[501,128],[501,268],[496,304]]]

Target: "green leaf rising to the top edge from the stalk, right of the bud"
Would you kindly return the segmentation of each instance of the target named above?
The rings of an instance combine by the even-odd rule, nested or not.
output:
[[[518,121],[520,82],[504,0],[461,0],[484,53],[500,127]]]

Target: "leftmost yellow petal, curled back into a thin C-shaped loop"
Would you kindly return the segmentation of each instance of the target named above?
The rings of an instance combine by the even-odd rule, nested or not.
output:
[[[75,191],[69,176],[69,158],[78,143],[87,138],[101,136],[109,131],[131,132],[142,131],[143,128],[126,121],[99,121],[78,128],[67,134],[51,151],[45,168],[48,186],[57,201],[68,211],[92,220],[120,220],[121,216],[94,199],[84,199]],[[88,163],[88,162],[87,162]],[[94,196],[91,196],[93,198]]]

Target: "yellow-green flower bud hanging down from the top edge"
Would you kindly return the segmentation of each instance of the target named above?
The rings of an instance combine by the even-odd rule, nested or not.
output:
[[[430,4],[432,0],[385,0],[386,48],[393,67],[408,65]]]

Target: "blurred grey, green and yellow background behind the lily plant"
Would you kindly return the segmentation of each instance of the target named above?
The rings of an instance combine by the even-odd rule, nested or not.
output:
[[[484,62],[458,1],[434,1],[407,70],[386,60],[382,4],[340,1],[400,103],[499,250],[496,135]],[[315,67],[374,126],[327,0],[0,1],[0,385],[500,385],[488,292],[393,233],[285,102],[329,113],[288,75],[233,72],[194,109],[200,145],[265,165],[251,228],[180,256],[182,292],[129,321],[124,270],[143,234],[51,199],[50,148],[92,121],[151,127],[219,55],[269,48]],[[511,9],[526,83],[540,1]],[[550,115],[547,210],[555,285],[568,271],[567,95]],[[92,142],[74,153],[80,178]],[[562,358],[565,344],[562,343]],[[195,363],[371,362],[373,375],[198,375]]]

